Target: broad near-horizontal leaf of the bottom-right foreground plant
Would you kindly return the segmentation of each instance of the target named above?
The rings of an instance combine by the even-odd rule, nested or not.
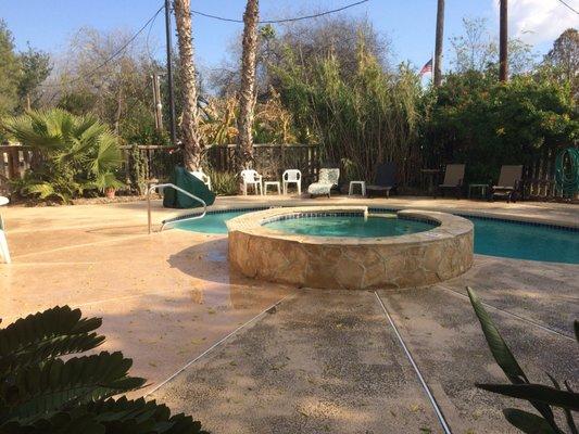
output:
[[[477,387],[531,403],[542,403],[579,411],[579,394],[558,391],[543,384],[477,384]]]

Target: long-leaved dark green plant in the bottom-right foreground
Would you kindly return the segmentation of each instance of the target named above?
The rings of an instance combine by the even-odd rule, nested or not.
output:
[[[558,426],[555,420],[554,408],[562,409],[565,414],[568,433],[577,434],[577,425],[571,411],[579,411],[579,394],[571,390],[567,381],[564,382],[565,390],[563,390],[549,373],[553,386],[531,383],[475,292],[470,288],[467,288],[467,291],[492,356],[512,383],[476,384],[476,386],[529,401],[539,414],[516,408],[503,410],[506,420],[526,434],[565,434],[566,432]],[[575,321],[575,335],[579,342],[579,322],[577,320]]]

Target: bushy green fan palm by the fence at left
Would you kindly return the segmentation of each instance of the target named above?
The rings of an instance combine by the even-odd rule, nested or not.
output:
[[[68,202],[86,190],[123,186],[114,175],[122,162],[118,140],[91,115],[75,116],[60,108],[33,111],[4,119],[2,128],[38,156],[17,183],[24,195]]]

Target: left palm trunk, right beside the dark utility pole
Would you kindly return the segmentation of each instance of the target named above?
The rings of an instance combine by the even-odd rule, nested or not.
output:
[[[174,0],[175,23],[179,46],[180,74],[182,80],[182,114],[179,123],[184,163],[188,170],[201,166],[202,145],[198,130],[197,81],[193,65],[193,39],[191,36],[190,0]]]

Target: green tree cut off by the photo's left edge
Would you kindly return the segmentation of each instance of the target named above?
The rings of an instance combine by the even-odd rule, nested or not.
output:
[[[20,63],[14,51],[12,33],[0,20],[0,116],[11,114],[16,106]]]

